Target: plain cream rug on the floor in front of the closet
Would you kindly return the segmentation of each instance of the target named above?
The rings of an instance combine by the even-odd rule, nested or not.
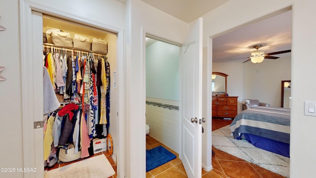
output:
[[[104,154],[44,172],[44,178],[109,178],[114,175]]]

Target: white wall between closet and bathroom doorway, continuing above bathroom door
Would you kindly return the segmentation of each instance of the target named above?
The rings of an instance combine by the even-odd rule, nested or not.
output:
[[[141,0],[126,1],[126,128],[128,178],[146,177],[145,143],[145,32],[181,43],[188,34],[188,24]]]

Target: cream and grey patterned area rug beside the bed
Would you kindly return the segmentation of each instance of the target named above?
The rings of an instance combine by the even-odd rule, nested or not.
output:
[[[231,135],[229,125],[212,132],[212,145],[226,153],[289,178],[290,158],[253,146]]]

